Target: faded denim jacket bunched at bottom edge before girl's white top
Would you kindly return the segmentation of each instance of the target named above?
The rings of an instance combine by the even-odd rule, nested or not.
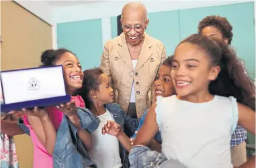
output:
[[[136,145],[129,154],[130,168],[188,168],[177,160],[167,159],[165,155],[157,151],[151,151],[148,147]]]

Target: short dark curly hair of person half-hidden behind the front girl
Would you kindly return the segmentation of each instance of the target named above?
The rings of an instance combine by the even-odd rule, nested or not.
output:
[[[223,37],[228,39],[228,44],[231,44],[233,37],[232,25],[230,25],[226,17],[217,15],[204,17],[204,19],[202,19],[198,25],[198,33],[201,34],[203,29],[208,26],[217,27],[222,32]]]

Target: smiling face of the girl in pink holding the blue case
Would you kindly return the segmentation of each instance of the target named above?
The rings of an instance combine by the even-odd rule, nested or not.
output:
[[[73,54],[66,52],[60,56],[55,65],[62,65],[68,94],[82,87],[83,71],[80,62]]]

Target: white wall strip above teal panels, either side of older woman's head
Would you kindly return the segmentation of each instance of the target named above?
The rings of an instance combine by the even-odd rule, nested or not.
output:
[[[249,0],[253,1],[253,0]],[[148,12],[170,11],[196,7],[209,7],[213,5],[226,5],[244,3],[248,1],[141,1]],[[120,15],[122,7],[128,1],[106,1],[73,7],[62,7],[54,11],[56,23],[99,19]]]

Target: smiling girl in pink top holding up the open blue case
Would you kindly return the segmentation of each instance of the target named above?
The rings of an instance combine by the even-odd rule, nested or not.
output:
[[[77,89],[81,88],[83,83],[81,64],[69,50],[46,50],[41,56],[41,62],[42,66],[63,66],[67,94],[73,95]],[[53,167],[52,153],[56,141],[56,131],[62,121],[63,113],[77,127],[79,130],[77,135],[85,146],[91,147],[91,135],[85,129],[81,129],[75,106],[85,107],[81,96],[72,96],[71,102],[65,105],[60,104],[57,107],[22,109],[25,114],[24,122],[30,129],[30,136],[34,144],[34,168]]]

